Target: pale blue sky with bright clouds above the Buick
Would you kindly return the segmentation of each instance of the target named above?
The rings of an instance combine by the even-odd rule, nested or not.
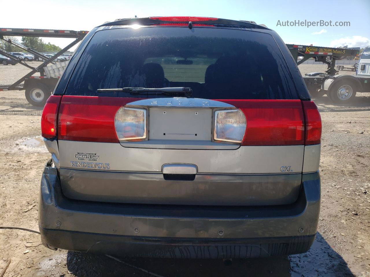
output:
[[[0,0],[1,10],[13,10],[11,1]],[[206,16],[233,20],[252,20],[277,32],[287,44],[322,47],[365,47],[370,45],[370,0],[335,0],[331,2],[276,0],[45,0],[36,8],[27,0],[17,6],[28,6],[21,13],[1,13],[0,28],[34,28],[87,30],[116,18],[149,16]],[[323,4],[321,4],[323,3]],[[31,11],[33,10],[33,11]],[[42,10],[50,10],[46,15]],[[348,11],[348,12],[347,12]],[[322,20],[349,22],[350,26],[286,26],[286,21],[316,22]],[[343,23],[344,24],[344,23]],[[312,24],[313,25],[313,24]],[[73,41],[67,38],[43,38],[60,47]],[[77,47],[77,45],[75,46]],[[71,49],[73,50],[73,49]]]

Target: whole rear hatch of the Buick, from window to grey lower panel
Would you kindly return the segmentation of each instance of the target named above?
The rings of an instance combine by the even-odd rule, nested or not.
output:
[[[191,88],[192,96],[120,88]],[[253,30],[97,31],[65,94],[53,98],[61,185],[73,199],[290,204],[305,144],[320,140],[318,126],[309,139],[305,132],[303,107],[316,106],[302,105],[274,38]]]

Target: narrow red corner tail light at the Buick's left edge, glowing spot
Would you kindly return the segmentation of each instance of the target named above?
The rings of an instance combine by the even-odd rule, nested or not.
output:
[[[55,138],[57,136],[57,113],[60,99],[59,95],[51,95],[41,115],[41,136],[44,138]]]

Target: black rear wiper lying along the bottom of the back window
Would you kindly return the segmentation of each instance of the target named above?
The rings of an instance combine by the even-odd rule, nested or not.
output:
[[[158,93],[148,93],[148,92],[161,92],[163,94],[184,94],[187,98],[190,98],[193,94],[191,88],[117,88],[117,89],[98,89],[97,92],[128,92],[130,94],[147,94],[156,95]]]

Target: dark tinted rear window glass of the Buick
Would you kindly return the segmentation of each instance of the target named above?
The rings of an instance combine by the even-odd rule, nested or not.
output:
[[[78,61],[65,94],[146,97],[97,92],[124,87],[189,87],[193,97],[205,99],[298,98],[271,35],[223,28],[98,31]],[[156,97],[164,96],[150,95]]]

